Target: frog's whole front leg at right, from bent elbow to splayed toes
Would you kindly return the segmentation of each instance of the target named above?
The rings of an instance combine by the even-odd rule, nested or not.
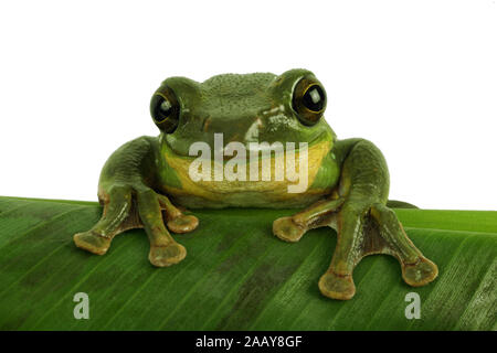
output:
[[[348,145],[347,141],[342,143]],[[371,254],[396,257],[402,266],[402,277],[411,286],[431,282],[438,272],[436,265],[413,245],[395,213],[385,205],[389,174],[383,156],[366,140],[349,145],[348,150],[342,151],[346,158],[338,199],[318,202],[292,217],[276,220],[274,234],[284,240],[296,242],[314,227],[337,229],[331,264],[319,280],[321,293],[329,298],[346,300],[353,297],[353,268]]]

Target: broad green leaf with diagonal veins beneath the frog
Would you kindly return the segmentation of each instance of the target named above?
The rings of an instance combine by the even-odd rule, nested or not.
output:
[[[317,282],[336,245],[329,228],[296,244],[272,235],[289,210],[195,211],[199,228],[176,235],[187,258],[148,261],[141,229],[116,237],[104,256],[75,247],[102,208],[91,202],[0,197],[2,330],[496,330],[497,212],[396,210],[409,236],[440,268],[412,288],[392,257],[355,271],[356,297],[336,301]],[[89,320],[73,297],[89,297]],[[409,320],[405,295],[421,298]]]

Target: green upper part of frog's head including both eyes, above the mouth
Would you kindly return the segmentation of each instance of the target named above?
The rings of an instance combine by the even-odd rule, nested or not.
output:
[[[322,115],[326,93],[307,69],[225,74],[197,83],[184,77],[162,82],[150,103],[162,143],[188,156],[198,141],[214,147],[214,133],[224,145],[242,142],[307,142],[335,140]]]

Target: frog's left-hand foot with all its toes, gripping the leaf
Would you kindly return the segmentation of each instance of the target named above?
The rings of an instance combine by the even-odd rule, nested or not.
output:
[[[166,196],[148,188],[116,185],[103,195],[102,201],[104,213],[98,223],[88,232],[74,235],[77,247],[103,255],[117,234],[130,228],[145,228],[150,240],[149,260],[152,265],[170,266],[187,256],[186,248],[176,243],[168,228],[187,233],[193,231],[199,221],[184,215]]]

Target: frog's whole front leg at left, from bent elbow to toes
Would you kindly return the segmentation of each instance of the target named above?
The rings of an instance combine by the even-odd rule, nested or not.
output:
[[[172,238],[168,228],[175,233],[191,232],[198,220],[184,215],[167,196],[154,191],[155,143],[152,138],[139,138],[124,145],[108,159],[98,186],[103,215],[92,229],[74,235],[77,247],[104,255],[117,234],[145,228],[152,265],[169,266],[186,257],[187,250]]]

